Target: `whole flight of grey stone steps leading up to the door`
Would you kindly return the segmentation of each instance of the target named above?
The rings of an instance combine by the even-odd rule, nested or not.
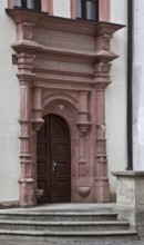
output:
[[[60,208],[59,208],[60,207]],[[65,208],[66,207],[66,208]],[[104,208],[103,208],[104,207]],[[137,232],[119,220],[113,205],[47,205],[0,210],[0,241],[137,241]],[[79,243],[80,241],[80,243]],[[82,242],[82,243],[81,243]]]

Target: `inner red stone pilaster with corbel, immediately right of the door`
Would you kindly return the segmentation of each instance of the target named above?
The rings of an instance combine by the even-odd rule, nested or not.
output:
[[[86,139],[91,126],[89,120],[88,97],[88,91],[80,91],[79,121],[76,126],[79,128],[78,192],[81,197],[88,197],[91,192]]]

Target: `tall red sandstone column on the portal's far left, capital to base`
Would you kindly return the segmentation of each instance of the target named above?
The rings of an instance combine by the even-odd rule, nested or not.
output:
[[[18,53],[18,78],[20,81],[20,206],[32,206],[35,204],[33,166],[31,155],[31,70],[34,56]]]

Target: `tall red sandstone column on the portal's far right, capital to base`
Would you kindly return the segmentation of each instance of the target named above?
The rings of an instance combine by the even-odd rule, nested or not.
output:
[[[107,178],[107,156],[105,139],[105,88],[110,84],[110,63],[95,65],[96,89],[96,200],[110,202],[110,185]]]

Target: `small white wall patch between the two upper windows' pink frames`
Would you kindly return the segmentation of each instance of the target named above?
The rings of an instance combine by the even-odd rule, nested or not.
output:
[[[53,14],[58,17],[71,17],[70,0],[53,0]]]

